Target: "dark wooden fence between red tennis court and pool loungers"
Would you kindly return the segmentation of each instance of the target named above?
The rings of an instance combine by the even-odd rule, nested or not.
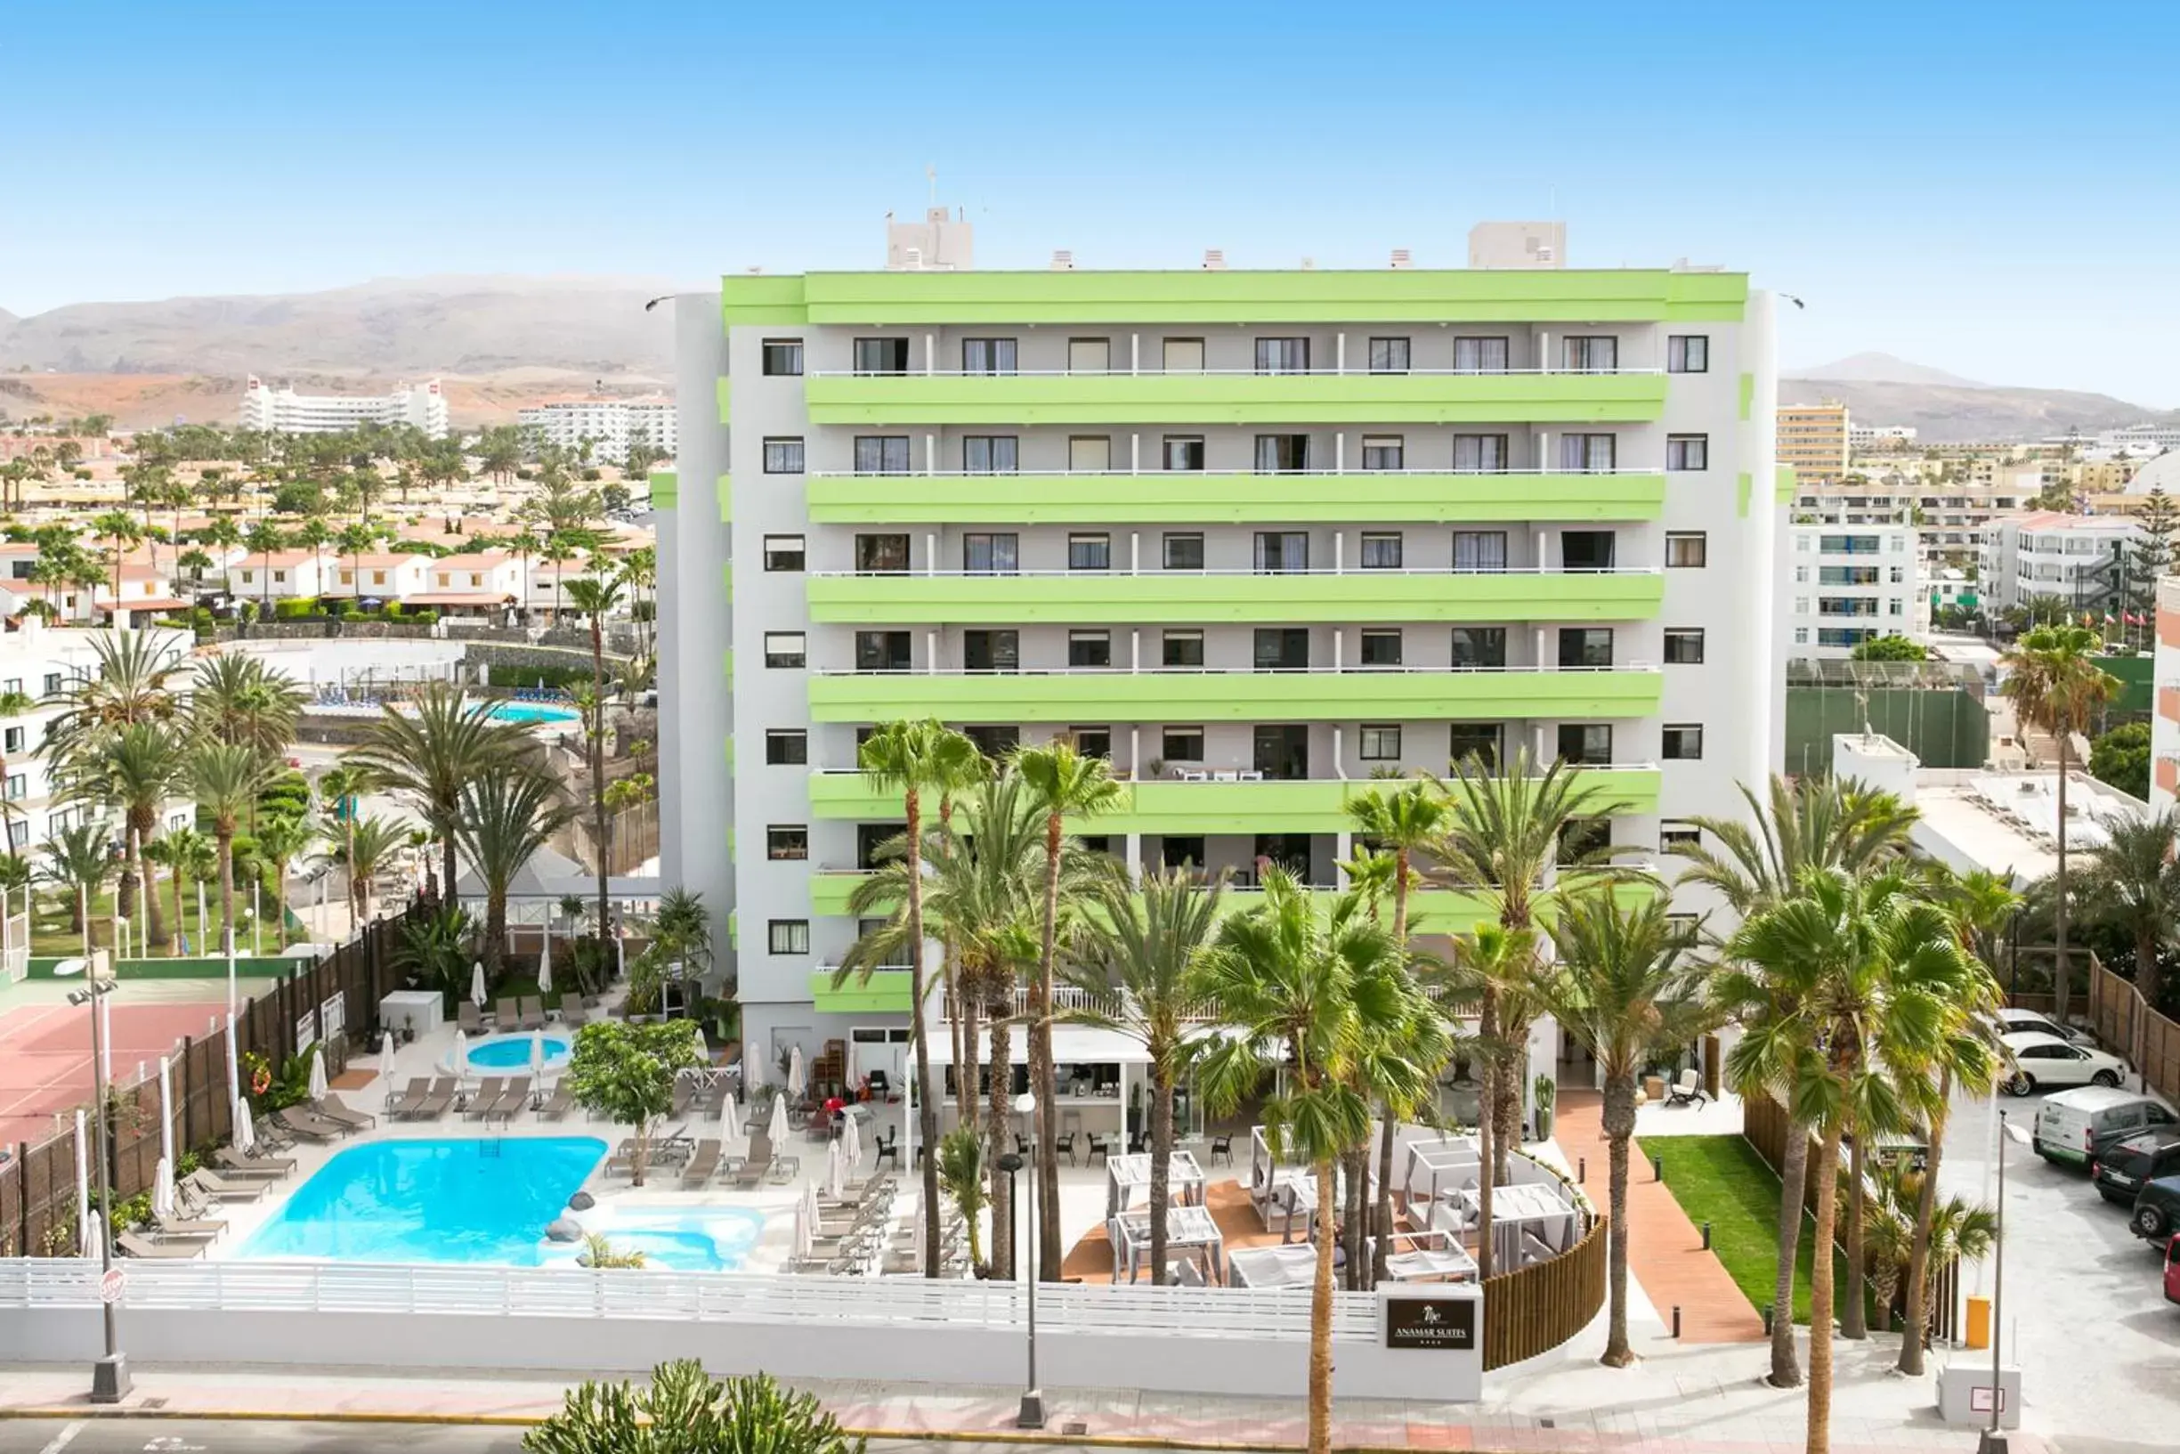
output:
[[[262,1055],[279,1068],[294,1055],[296,1022],[340,996],[342,1029],[323,1035],[327,1073],[347,1066],[351,1042],[377,1027],[379,998],[403,985],[392,968],[401,920],[386,918],[336,948],[314,966],[275,981],[255,981],[257,994],[235,1014],[235,1053]],[[318,1025],[325,1020],[320,1018]],[[174,1114],[174,1151],[216,1147],[233,1129],[227,1099],[227,1038],[218,1025],[183,1038],[168,1057],[168,1090]],[[107,1171],[116,1201],[150,1190],[159,1166],[159,1077],[109,1088],[113,1144]],[[89,1103],[85,1103],[89,1110]],[[96,1147],[96,1127],[87,1127]],[[0,1164],[0,1258],[65,1256],[76,1249],[76,1131],[63,1129],[46,1142],[20,1142]],[[98,1175],[92,1173],[96,1188]]]

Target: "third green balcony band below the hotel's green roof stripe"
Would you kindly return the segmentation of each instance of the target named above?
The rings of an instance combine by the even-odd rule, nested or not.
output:
[[[811,621],[833,626],[1642,621],[1666,599],[1666,578],[1655,569],[818,571],[807,593]]]

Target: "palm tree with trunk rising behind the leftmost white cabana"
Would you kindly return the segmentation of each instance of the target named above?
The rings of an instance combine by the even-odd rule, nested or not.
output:
[[[1151,1282],[1166,1280],[1166,1208],[1171,1201],[1173,1088],[1188,1073],[1190,987],[1195,961],[1219,929],[1225,874],[1210,885],[1186,868],[1144,874],[1142,889],[1125,881],[1101,885],[1070,946],[1064,979],[1086,1005],[1062,1020],[1097,1025],[1144,1049],[1151,1070]]]

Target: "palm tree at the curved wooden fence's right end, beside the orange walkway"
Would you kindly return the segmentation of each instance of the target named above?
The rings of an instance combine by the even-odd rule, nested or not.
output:
[[[1552,920],[1559,970],[1543,1001],[1604,1073],[1604,1140],[1611,1155],[1611,1325],[1604,1362],[1635,1362],[1628,1347],[1628,1142],[1635,1138],[1635,1077],[1659,1053],[1687,1046],[1709,1027],[1705,966],[1690,933],[1672,922],[1663,894],[1622,909],[1609,892],[1576,894]]]

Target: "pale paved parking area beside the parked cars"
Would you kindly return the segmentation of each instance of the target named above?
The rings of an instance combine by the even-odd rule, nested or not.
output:
[[[2012,1125],[2043,1096],[2001,1099]],[[1990,1201],[1997,1118],[1990,1101],[1958,1101],[1938,1184]],[[1988,1264],[1966,1293],[1990,1291]],[[2128,1232],[2084,1171],[2006,1147],[2006,1349],[2019,1349],[2030,1426],[2067,1454],[2173,1447],[2180,1430],[2180,1306],[2165,1301],[2160,1253]]]

